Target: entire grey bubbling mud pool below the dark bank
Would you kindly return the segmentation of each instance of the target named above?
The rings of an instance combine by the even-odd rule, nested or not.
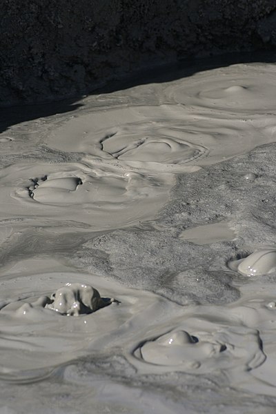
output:
[[[275,84],[206,70],[0,134],[3,412],[274,413]]]

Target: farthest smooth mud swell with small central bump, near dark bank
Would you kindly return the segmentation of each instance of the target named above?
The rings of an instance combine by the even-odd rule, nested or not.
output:
[[[260,70],[261,69],[261,72]],[[260,77],[264,77],[260,82]],[[197,112],[237,114],[267,114],[275,111],[275,68],[273,65],[254,67],[234,65],[195,75],[194,83],[183,81],[181,86],[168,88],[166,94],[176,102]],[[213,112],[213,115],[214,112]]]

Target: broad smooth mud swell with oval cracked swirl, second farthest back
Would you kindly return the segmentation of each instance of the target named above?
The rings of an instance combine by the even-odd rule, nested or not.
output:
[[[197,114],[175,101],[123,107],[80,114],[59,125],[46,140],[51,148],[85,152],[88,159],[117,167],[151,174],[194,172],[248,152],[260,138],[262,144],[275,140],[274,116],[248,117],[242,110],[241,114],[230,118],[213,112]]]

